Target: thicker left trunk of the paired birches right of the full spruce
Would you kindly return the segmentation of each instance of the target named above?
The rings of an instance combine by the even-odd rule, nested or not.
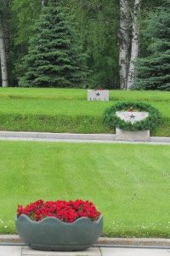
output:
[[[120,0],[120,30],[119,30],[119,67],[120,87],[127,88],[127,71],[130,44],[130,10],[129,0]]]

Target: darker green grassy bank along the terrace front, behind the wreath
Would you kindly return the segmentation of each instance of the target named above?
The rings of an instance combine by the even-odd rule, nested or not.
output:
[[[99,116],[0,113],[0,131],[114,133]],[[163,118],[151,136],[170,137],[170,119]]]

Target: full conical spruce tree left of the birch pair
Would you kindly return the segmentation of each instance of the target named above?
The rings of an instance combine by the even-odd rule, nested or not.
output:
[[[23,87],[78,87],[86,79],[85,55],[65,18],[59,1],[50,1],[34,27],[28,55],[24,57]]]

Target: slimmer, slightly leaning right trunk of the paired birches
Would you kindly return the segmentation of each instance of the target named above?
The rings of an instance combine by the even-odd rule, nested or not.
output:
[[[136,80],[136,68],[134,61],[138,58],[139,55],[139,11],[140,11],[141,0],[134,0],[134,9],[133,9],[133,37],[132,37],[132,48],[131,48],[131,57],[130,65],[127,76],[127,90],[129,90],[135,80]]]

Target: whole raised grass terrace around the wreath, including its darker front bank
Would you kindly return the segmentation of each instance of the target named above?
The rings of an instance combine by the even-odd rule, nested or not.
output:
[[[102,121],[105,108],[120,101],[147,102],[163,122],[152,136],[170,137],[170,92],[110,90],[110,102],[88,102],[87,90],[0,89],[0,130],[75,133],[114,132]]]

